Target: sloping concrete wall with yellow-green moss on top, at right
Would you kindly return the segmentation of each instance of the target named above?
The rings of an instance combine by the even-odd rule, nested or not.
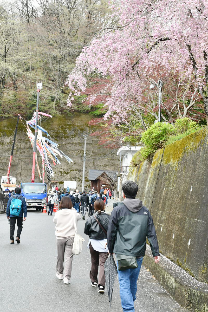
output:
[[[129,179],[150,210],[161,252],[208,282],[208,129],[157,151]]]

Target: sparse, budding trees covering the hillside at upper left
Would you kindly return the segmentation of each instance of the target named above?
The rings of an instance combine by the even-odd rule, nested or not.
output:
[[[104,27],[112,27],[107,0],[0,2],[0,118],[31,117],[36,81],[41,110],[51,115],[89,112],[85,95],[68,107],[63,88],[83,47]],[[95,113],[99,114],[99,111]]]

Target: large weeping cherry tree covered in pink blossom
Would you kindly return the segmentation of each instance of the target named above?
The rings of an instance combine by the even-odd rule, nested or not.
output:
[[[77,58],[66,81],[71,89],[67,105],[85,91],[90,75],[99,74],[110,77],[104,119],[119,124],[132,111],[138,118],[148,111],[157,119],[149,83],[160,78],[166,81],[164,120],[186,116],[202,100],[208,121],[208,1],[122,0],[109,5],[119,22],[98,33]]]

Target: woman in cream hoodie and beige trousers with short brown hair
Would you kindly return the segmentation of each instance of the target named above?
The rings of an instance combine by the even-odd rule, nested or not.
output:
[[[77,221],[81,219],[80,214],[72,207],[70,198],[68,196],[63,197],[60,201],[59,210],[56,212],[53,222],[56,224],[56,276],[59,280],[64,280],[64,284],[69,284],[71,277],[73,259],[72,247],[75,238],[74,218],[77,224]]]

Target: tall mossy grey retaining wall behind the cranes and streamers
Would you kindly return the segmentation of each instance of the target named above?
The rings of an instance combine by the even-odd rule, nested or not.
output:
[[[44,122],[41,122],[41,126],[51,135],[51,140],[58,143],[60,150],[74,161],[74,163],[69,164],[64,157],[62,159],[58,157],[61,164],[57,165],[56,168],[53,166],[54,178],[52,177],[51,180],[59,181],[59,188],[63,188],[64,181],[77,181],[77,187],[81,190],[84,154],[83,135],[89,135],[93,130],[97,129],[95,126],[88,125],[88,121],[91,118],[91,115],[76,113],[72,117],[58,116],[53,119],[47,118]],[[16,119],[1,120],[0,125],[0,176],[2,176],[7,174]],[[32,154],[33,150],[27,137],[26,129],[22,122],[19,121],[11,166],[11,176],[16,177],[17,183],[20,183],[21,180],[23,182],[31,181]],[[39,154],[37,153],[37,155]],[[106,156],[103,157],[104,155]],[[38,160],[41,168],[41,158],[38,157]],[[88,180],[89,169],[114,170],[118,163],[116,150],[106,149],[104,146],[98,145],[98,140],[95,137],[88,136],[86,143],[85,188],[90,187]],[[40,182],[37,169],[35,174],[35,182]]]

